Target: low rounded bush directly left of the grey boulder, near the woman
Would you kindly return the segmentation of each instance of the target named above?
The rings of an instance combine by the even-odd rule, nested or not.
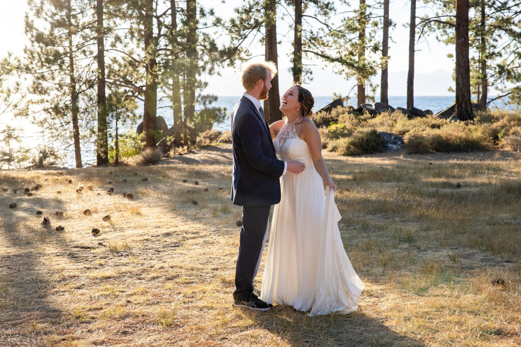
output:
[[[328,145],[328,150],[336,151],[342,156],[359,156],[369,153],[383,151],[383,141],[376,130],[357,133],[350,137],[342,137],[332,140]]]

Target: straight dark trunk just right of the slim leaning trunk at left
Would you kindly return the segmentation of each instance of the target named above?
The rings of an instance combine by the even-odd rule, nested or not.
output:
[[[96,165],[108,164],[107,101],[105,95],[105,43],[103,27],[103,0],[96,0],[97,36],[97,115],[98,133]]]

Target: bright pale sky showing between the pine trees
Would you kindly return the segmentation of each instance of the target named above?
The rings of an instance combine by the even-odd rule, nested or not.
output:
[[[205,7],[214,7],[217,15],[224,18],[232,15],[232,8],[240,5],[240,0],[226,0],[221,3],[216,0],[199,0]],[[390,18],[396,22],[396,27],[390,32],[394,42],[389,47],[389,95],[406,95],[407,61],[408,61],[408,18],[410,3],[406,0],[395,0],[390,4]],[[421,9],[420,9],[421,10]],[[419,14],[420,10],[417,10]],[[27,11],[26,0],[0,0],[0,57],[7,52],[21,55],[27,38],[23,33],[23,17]],[[279,84],[281,89],[290,86],[292,76],[289,53],[292,50],[292,33],[283,37],[281,33],[288,31],[288,24],[279,21],[278,39],[281,44],[279,50]],[[263,47],[259,47],[259,54],[263,54]],[[448,92],[452,81],[453,62],[447,57],[453,53],[453,46],[446,46],[430,38],[428,44],[420,42],[416,45],[415,54],[415,95],[453,95]],[[256,60],[259,60],[257,58]],[[320,65],[313,67],[314,79],[307,85],[317,96],[332,96],[333,93],[348,95],[354,85],[353,81],[346,81],[344,76],[336,75],[330,68]],[[219,96],[237,96],[242,94],[240,85],[241,66],[226,68],[220,71],[220,76],[206,76],[207,93]],[[379,80],[379,75],[376,76]],[[352,94],[353,95],[353,92]]]

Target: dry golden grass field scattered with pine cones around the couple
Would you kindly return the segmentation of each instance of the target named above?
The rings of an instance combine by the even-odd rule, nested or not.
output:
[[[148,167],[0,171],[0,345],[521,345],[519,155],[325,156],[366,284],[357,312],[232,308],[241,210],[230,147],[210,146]]]

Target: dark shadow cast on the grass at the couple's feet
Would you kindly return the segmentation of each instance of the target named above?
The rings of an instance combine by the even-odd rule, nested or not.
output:
[[[349,315],[308,317],[290,306],[279,305],[269,313],[244,314],[294,346],[425,346],[391,330],[382,318],[370,317],[360,309]]]

